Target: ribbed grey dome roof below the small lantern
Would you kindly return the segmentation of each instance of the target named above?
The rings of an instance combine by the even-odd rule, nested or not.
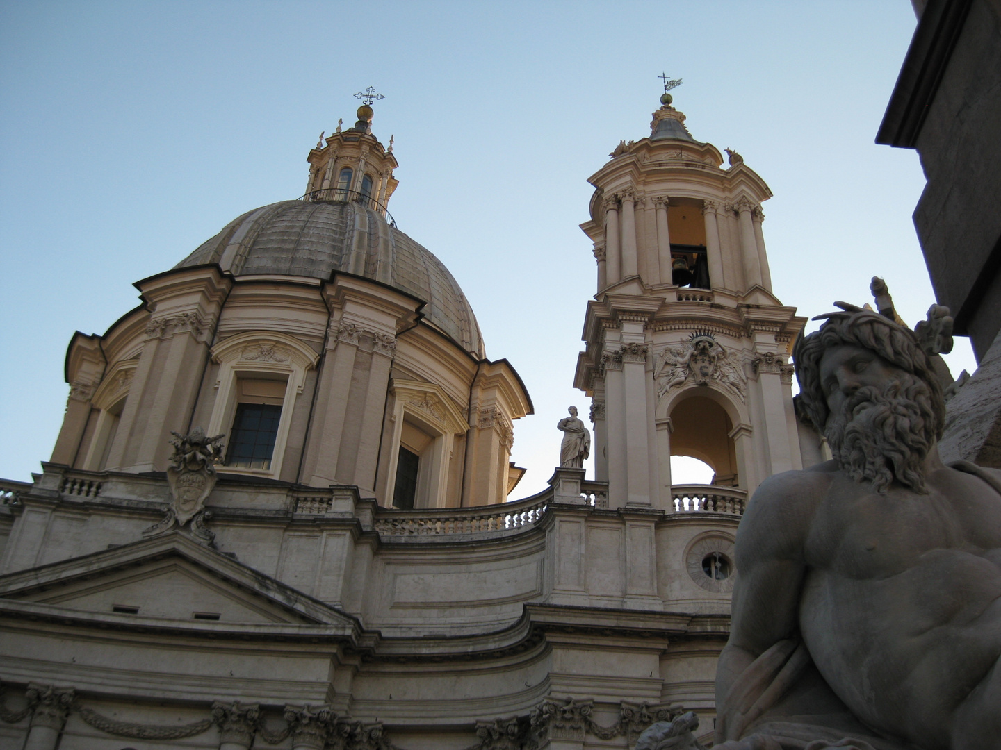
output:
[[[364,276],[423,300],[429,322],[482,358],[479,326],[448,269],[385,219],[356,203],[281,201],[248,211],[175,266],[218,263],[234,276]]]

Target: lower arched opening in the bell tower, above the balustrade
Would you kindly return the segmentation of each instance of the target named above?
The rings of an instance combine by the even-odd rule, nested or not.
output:
[[[714,472],[712,484],[738,486],[737,448],[730,437],[734,424],[720,404],[707,396],[690,396],[671,410],[671,425],[672,456],[691,456],[708,464]],[[684,483],[675,479],[674,472],[672,482]]]

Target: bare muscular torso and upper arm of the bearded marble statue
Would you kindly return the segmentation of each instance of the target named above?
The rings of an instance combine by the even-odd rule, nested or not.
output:
[[[766,482],[738,540],[731,643],[757,656],[798,626],[865,723],[929,750],[999,748],[1001,497],[938,466],[927,495],[876,494],[833,462]],[[796,610],[778,628],[776,603]]]

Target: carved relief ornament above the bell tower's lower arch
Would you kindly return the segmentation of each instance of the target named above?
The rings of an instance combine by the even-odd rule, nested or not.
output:
[[[711,333],[695,332],[681,346],[666,346],[654,366],[657,396],[663,398],[673,388],[690,381],[715,385],[747,398],[747,375],[737,352],[727,352]]]

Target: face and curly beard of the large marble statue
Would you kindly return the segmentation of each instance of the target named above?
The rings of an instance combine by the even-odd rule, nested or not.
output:
[[[824,352],[819,375],[830,409],[824,433],[841,467],[880,493],[895,479],[926,492],[922,465],[935,439],[928,385],[849,344]]]

